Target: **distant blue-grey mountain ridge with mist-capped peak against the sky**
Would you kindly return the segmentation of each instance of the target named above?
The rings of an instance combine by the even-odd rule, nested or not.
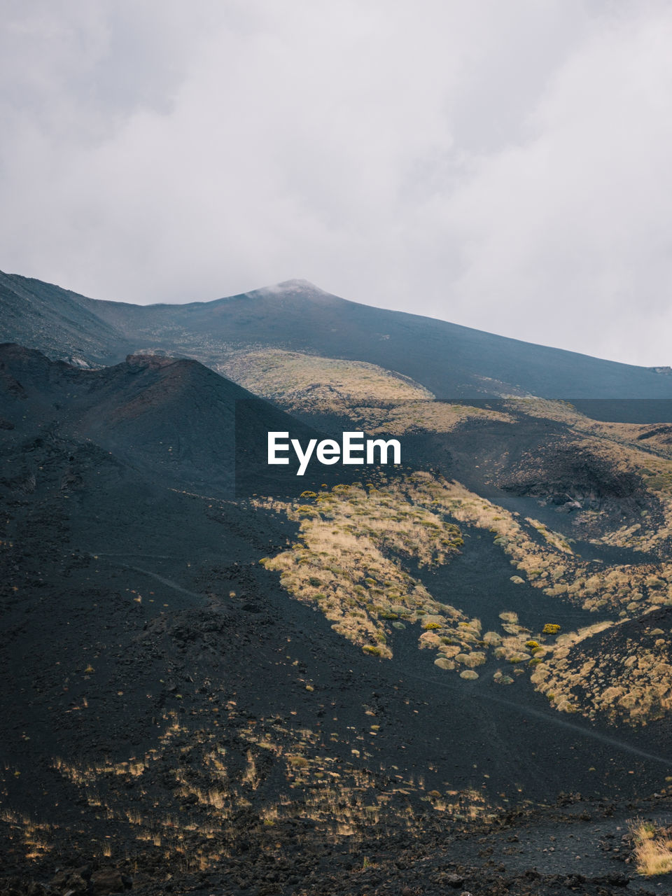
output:
[[[116,363],[149,351],[217,369],[241,349],[261,347],[365,361],[447,399],[672,398],[672,379],[650,368],[359,305],[305,280],[211,302],[134,306],[0,274],[0,310],[0,339],[80,364]]]

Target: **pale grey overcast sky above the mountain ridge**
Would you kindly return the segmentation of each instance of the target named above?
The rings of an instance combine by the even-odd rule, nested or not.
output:
[[[0,0],[0,268],[672,364],[672,4]]]

